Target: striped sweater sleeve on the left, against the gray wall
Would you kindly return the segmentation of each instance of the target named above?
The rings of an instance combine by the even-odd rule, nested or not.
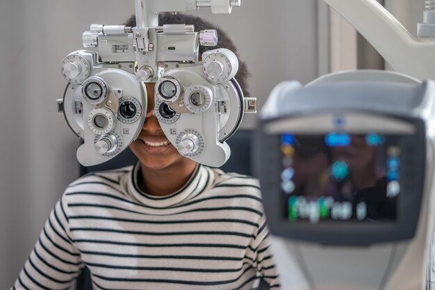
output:
[[[69,235],[64,194],[51,211],[13,290],[67,289],[83,266],[79,250]]]

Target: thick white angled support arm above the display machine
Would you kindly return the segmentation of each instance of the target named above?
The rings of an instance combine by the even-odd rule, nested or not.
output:
[[[413,38],[376,0],[325,2],[345,17],[397,72],[417,79],[435,79],[434,38]]]

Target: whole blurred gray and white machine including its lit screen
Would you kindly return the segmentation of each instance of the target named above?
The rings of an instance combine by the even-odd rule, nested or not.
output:
[[[284,289],[425,289],[434,98],[434,81],[381,71],[274,88],[254,168]]]

